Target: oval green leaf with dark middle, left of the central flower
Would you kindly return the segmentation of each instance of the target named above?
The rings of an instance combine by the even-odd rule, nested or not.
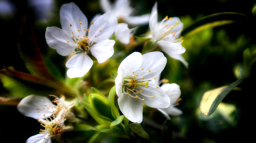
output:
[[[90,94],[89,102],[93,110],[96,111],[98,115],[115,120],[111,113],[110,103],[106,97],[99,94]]]

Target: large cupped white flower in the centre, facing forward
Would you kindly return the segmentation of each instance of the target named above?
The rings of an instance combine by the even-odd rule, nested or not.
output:
[[[142,122],[143,104],[153,108],[167,108],[169,98],[156,85],[166,65],[163,53],[149,52],[141,55],[133,52],[120,64],[115,79],[118,105],[123,115],[132,122]]]

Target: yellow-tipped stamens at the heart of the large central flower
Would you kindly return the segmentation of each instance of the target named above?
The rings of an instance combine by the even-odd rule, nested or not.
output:
[[[148,87],[154,87],[153,85],[149,84],[151,79],[148,80],[143,76],[146,76],[147,73],[151,72],[151,70],[144,70],[144,68],[138,69],[133,71],[129,75],[123,78],[123,93],[129,95],[132,98],[140,99],[144,101],[144,97],[152,97],[152,95],[144,94],[144,90]],[[154,77],[156,79],[156,77]]]

